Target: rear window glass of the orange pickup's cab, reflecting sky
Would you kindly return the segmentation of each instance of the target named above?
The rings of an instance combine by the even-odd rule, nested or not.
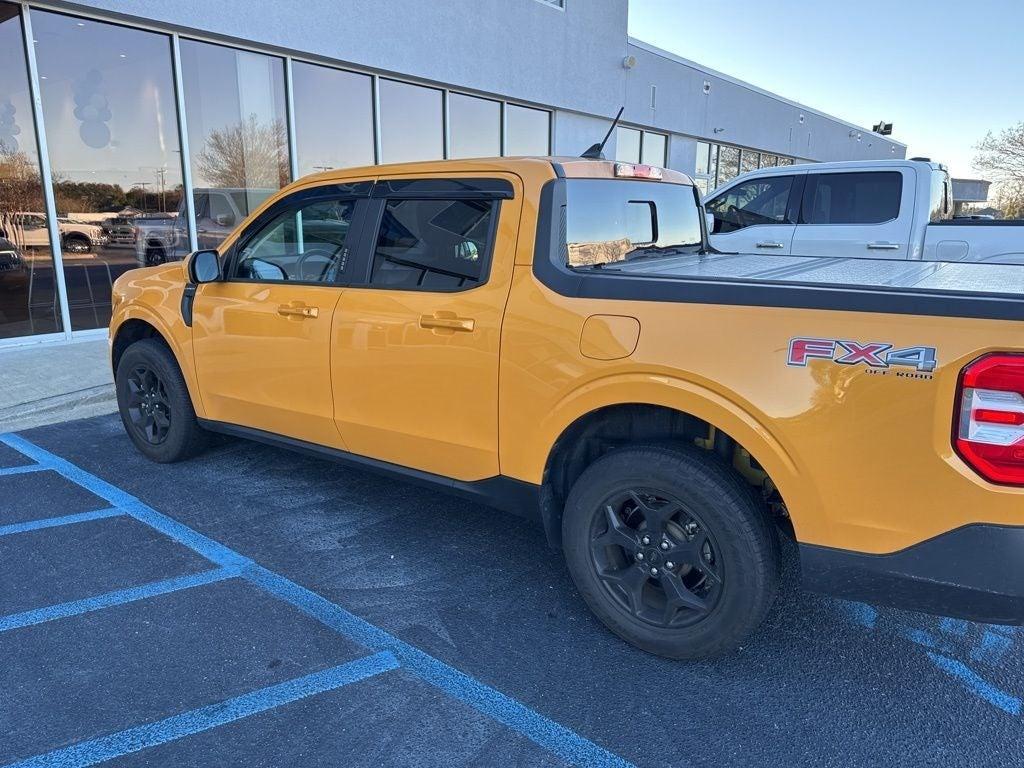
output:
[[[656,181],[565,182],[565,263],[599,266],[701,248],[693,187]]]

